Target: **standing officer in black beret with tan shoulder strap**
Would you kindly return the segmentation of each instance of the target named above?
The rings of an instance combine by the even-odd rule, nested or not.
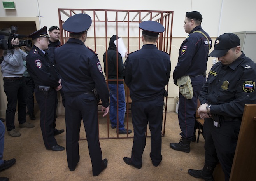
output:
[[[190,152],[190,141],[195,134],[197,99],[206,80],[208,52],[212,44],[209,35],[201,28],[202,19],[202,15],[197,11],[186,13],[184,29],[189,35],[181,44],[178,63],[173,73],[175,85],[177,85],[177,79],[189,75],[193,86],[192,99],[186,99],[179,93],[178,118],[182,138],[179,143],[170,143],[172,149],[186,153]]]

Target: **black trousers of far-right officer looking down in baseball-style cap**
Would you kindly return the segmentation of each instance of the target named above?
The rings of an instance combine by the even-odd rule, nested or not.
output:
[[[203,125],[205,164],[215,167],[220,162],[226,181],[230,178],[240,125],[241,121],[221,121],[221,127],[216,127],[211,118],[205,119]]]

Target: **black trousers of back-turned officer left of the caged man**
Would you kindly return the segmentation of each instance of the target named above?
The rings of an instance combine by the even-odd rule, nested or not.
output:
[[[100,174],[103,169],[103,162],[98,131],[98,104],[94,94],[65,97],[65,118],[68,167],[74,169],[79,161],[78,139],[82,119],[93,167],[93,175]]]

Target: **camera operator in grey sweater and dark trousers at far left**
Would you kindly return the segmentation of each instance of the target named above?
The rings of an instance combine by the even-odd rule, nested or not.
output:
[[[11,32],[10,28],[2,31]],[[10,38],[10,37],[8,37]],[[4,77],[4,92],[7,96],[6,127],[9,135],[19,137],[21,134],[15,129],[14,119],[16,104],[18,101],[18,121],[21,128],[33,128],[33,124],[26,122],[26,82],[23,78],[25,68],[23,59],[27,54],[19,47],[19,39],[12,37],[12,48],[8,48],[4,53],[4,60],[1,63],[1,71]]]

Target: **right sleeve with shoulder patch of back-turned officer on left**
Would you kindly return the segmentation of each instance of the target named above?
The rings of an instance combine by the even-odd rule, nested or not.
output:
[[[109,106],[109,90],[102,73],[102,67],[100,61],[96,54],[92,57],[89,62],[91,77],[95,83],[95,88],[98,91],[100,99],[102,101],[102,106]]]

